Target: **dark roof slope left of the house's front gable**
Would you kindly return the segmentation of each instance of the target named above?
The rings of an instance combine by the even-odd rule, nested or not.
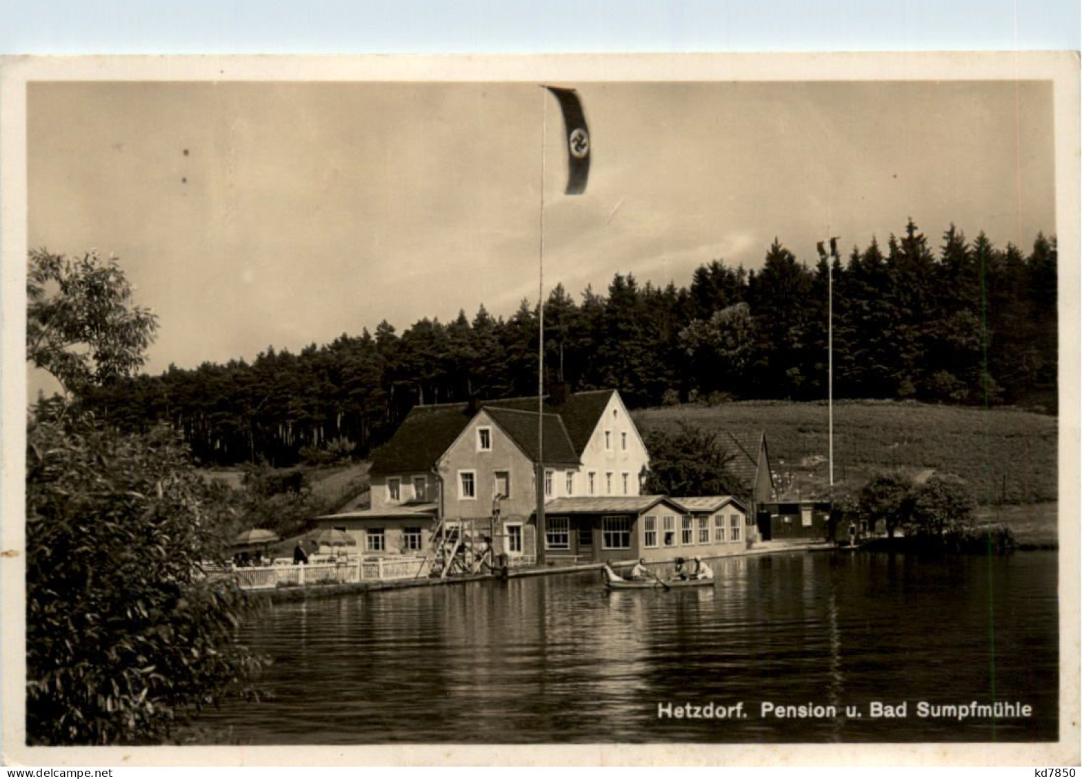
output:
[[[413,406],[375,451],[369,473],[427,473],[470,421],[465,405]]]

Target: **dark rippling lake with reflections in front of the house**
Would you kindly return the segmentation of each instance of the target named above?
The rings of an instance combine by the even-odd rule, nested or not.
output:
[[[669,592],[591,572],[270,604],[241,640],[273,698],[198,724],[252,744],[1057,738],[1055,552],[713,568]]]

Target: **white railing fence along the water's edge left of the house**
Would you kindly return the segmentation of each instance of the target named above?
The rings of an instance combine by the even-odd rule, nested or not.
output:
[[[424,558],[341,559],[315,565],[268,565],[232,570],[209,572],[213,578],[230,578],[242,590],[269,590],[278,587],[392,581],[423,578],[428,575]]]

